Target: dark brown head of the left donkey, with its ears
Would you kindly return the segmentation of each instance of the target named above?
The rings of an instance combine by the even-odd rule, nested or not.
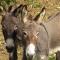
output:
[[[21,14],[22,8],[23,8],[23,5],[20,5],[11,12],[11,9],[12,9],[12,6],[11,6],[9,7],[7,13],[5,13],[5,15],[3,16],[1,25],[3,30],[3,35],[7,45],[10,44],[10,41],[14,41],[16,39],[16,35],[18,33],[19,35],[21,35],[20,33],[21,27],[22,27],[22,25],[20,24],[21,21],[16,16],[18,14]],[[17,30],[20,30],[20,31],[17,32]]]

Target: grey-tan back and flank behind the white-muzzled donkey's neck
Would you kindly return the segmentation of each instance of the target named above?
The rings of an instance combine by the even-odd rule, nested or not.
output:
[[[60,12],[50,17],[45,26],[49,34],[49,48],[55,52],[60,50]]]

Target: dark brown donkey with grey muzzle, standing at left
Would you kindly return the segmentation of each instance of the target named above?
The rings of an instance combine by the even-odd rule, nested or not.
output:
[[[9,53],[9,60],[17,60],[17,40],[22,40],[22,22],[21,13],[23,5],[18,6],[11,11],[12,6],[8,9],[8,12],[3,16],[1,25],[6,42],[6,49]],[[20,19],[17,16],[20,14]]]

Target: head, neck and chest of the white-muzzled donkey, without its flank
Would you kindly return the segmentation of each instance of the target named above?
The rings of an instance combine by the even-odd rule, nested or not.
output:
[[[27,10],[25,10],[25,12],[27,12]],[[27,12],[23,18],[24,59],[26,60],[32,60],[32,58],[35,60],[35,56],[39,57],[37,60],[42,60],[42,56],[44,60],[47,60],[48,33],[45,26],[39,24],[39,20],[41,23],[43,19],[42,16],[45,15],[45,7],[43,7],[40,13],[35,18],[30,18]],[[41,17],[39,18],[39,16]]]

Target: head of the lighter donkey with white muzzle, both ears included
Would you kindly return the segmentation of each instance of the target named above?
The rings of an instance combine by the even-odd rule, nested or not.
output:
[[[36,43],[39,38],[40,23],[45,14],[45,9],[41,11],[34,19],[28,17],[27,10],[23,17],[24,29],[23,39],[25,41],[26,56],[32,57],[36,54]]]

